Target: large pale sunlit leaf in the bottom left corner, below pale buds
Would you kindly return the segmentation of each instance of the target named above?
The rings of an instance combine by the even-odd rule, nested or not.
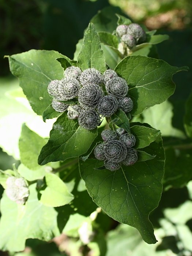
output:
[[[29,187],[30,195],[25,205],[18,205],[3,194],[0,207],[1,250],[23,251],[28,238],[49,241],[59,236],[57,211],[38,201],[35,187],[36,184]]]

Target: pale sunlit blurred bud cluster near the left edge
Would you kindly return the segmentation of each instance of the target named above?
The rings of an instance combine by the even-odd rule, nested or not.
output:
[[[25,179],[11,176],[7,178],[6,185],[5,193],[8,198],[17,204],[25,204],[29,196],[29,188]]]

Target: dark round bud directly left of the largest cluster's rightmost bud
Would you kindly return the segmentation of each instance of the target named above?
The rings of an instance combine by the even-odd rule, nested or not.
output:
[[[98,112],[109,117],[117,111],[118,101],[113,95],[103,96],[98,104]]]

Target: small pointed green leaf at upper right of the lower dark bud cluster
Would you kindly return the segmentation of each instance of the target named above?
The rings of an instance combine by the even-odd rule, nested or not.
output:
[[[142,125],[135,125],[135,123],[131,123],[133,126],[130,128],[131,133],[135,135],[136,143],[135,148],[144,148],[150,145],[150,143],[154,142],[159,134],[160,131],[154,128],[142,126]]]

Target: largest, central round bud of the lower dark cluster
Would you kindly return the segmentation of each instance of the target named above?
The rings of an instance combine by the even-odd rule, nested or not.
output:
[[[125,159],[127,147],[119,140],[112,140],[105,144],[104,154],[107,160],[119,163]]]

